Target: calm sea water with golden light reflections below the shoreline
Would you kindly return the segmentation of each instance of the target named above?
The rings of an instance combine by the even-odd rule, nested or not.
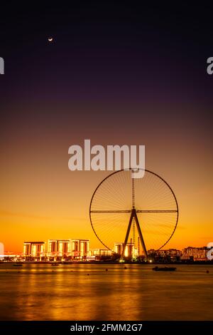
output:
[[[0,319],[213,320],[213,267],[178,265],[173,273],[126,267],[1,265]]]

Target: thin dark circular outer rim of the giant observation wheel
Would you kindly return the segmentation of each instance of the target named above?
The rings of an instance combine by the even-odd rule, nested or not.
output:
[[[129,169],[116,170],[116,171],[110,173],[110,175],[107,175],[107,177],[104,177],[104,179],[103,179],[101,182],[99,182],[99,185],[97,185],[97,187],[95,188],[95,190],[94,190],[94,192],[93,192],[93,194],[92,194],[92,198],[91,198],[91,200],[90,200],[90,204],[89,204],[89,220],[90,220],[90,224],[91,224],[91,226],[92,226],[92,230],[93,230],[95,236],[97,237],[97,239],[99,239],[99,242],[101,242],[101,243],[104,245],[104,247],[106,247],[107,249],[111,250],[111,248],[109,248],[106,244],[104,244],[104,242],[102,242],[102,239],[99,238],[97,232],[94,230],[94,225],[92,224],[92,217],[91,217],[91,214],[92,214],[92,210],[91,210],[91,207],[92,207],[92,200],[94,199],[94,195],[95,195],[95,193],[97,192],[97,190],[99,189],[99,187],[103,184],[103,182],[104,182],[105,180],[107,180],[109,177],[111,177],[112,175],[115,175],[115,174],[118,173],[118,172],[122,172],[122,171],[130,171],[130,170],[143,170],[144,172],[149,172],[149,173],[151,173],[152,175],[155,175],[156,177],[160,178],[160,180],[162,180],[162,181],[165,183],[165,185],[167,185],[167,186],[169,187],[169,189],[170,189],[170,191],[172,192],[173,197],[174,197],[174,199],[175,199],[175,205],[176,205],[176,207],[177,207],[177,218],[176,218],[176,222],[175,222],[175,227],[174,227],[173,232],[171,233],[170,237],[168,238],[168,240],[167,240],[167,241],[166,241],[160,248],[158,248],[158,249],[156,250],[156,251],[158,251],[158,250],[162,249],[163,247],[165,247],[165,244],[167,244],[167,243],[170,241],[170,239],[173,237],[173,234],[175,233],[175,230],[176,230],[176,228],[177,228],[177,226],[178,226],[179,207],[178,207],[178,200],[177,200],[177,198],[176,198],[176,196],[175,196],[175,192],[173,191],[172,187],[170,187],[170,185],[168,184],[168,182],[166,182],[166,181],[163,179],[163,177],[160,177],[160,175],[158,175],[157,173],[155,173],[155,172],[153,172],[153,171],[151,171],[151,170],[141,169],[141,168],[129,168]],[[112,250],[111,250],[111,251],[112,251]]]

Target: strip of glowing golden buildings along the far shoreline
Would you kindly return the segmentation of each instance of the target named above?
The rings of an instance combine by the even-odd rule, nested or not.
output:
[[[123,243],[115,243],[114,249],[89,249],[89,239],[48,239],[44,241],[23,242],[23,253],[4,252],[1,262],[92,262],[111,261],[119,259],[123,250]],[[149,249],[148,259],[138,255],[138,249],[132,243],[126,244],[124,257],[126,261],[156,262],[156,263],[192,263],[210,262],[207,247],[186,247],[184,249]],[[212,259],[213,262],[213,259]]]

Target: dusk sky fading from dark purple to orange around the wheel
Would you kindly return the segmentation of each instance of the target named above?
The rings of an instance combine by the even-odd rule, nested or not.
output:
[[[212,9],[129,1],[27,8],[0,24],[1,238],[89,238],[89,202],[109,172],[71,172],[68,148],[146,145],[146,168],[175,192],[168,247],[204,246],[212,229]],[[3,12],[3,11],[2,11]],[[53,36],[53,43],[48,43]]]

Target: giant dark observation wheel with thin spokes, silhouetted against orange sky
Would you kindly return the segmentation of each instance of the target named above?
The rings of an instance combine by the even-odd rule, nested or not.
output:
[[[131,241],[138,254],[148,256],[148,249],[161,249],[173,236],[178,225],[178,202],[168,182],[155,172],[138,169],[119,170],[99,183],[92,195],[89,217],[100,242],[113,249]]]

